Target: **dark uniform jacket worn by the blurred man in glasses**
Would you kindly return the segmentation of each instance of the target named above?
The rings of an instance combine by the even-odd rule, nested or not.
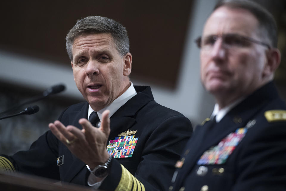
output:
[[[195,128],[169,190],[286,190],[286,105],[270,82]]]

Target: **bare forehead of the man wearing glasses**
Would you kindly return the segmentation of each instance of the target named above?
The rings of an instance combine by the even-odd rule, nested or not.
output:
[[[256,17],[242,8],[217,8],[207,19],[203,36],[237,33],[246,36],[256,34],[259,23]]]

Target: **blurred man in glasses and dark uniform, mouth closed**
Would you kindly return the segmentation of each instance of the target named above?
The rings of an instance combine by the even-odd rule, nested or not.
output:
[[[217,4],[197,40],[201,81],[215,108],[186,144],[169,190],[286,190],[276,32],[271,14],[251,1]]]

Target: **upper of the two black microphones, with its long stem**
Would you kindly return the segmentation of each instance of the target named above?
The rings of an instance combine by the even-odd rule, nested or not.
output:
[[[39,101],[49,95],[52,95],[52,94],[56,94],[56,93],[60,93],[62,92],[63,90],[65,90],[66,86],[63,85],[63,84],[58,84],[58,85],[55,85],[55,86],[52,86],[52,87],[49,87],[48,89],[46,89],[43,94],[41,96],[37,96],[37,97],[33,97],[21,104],[18,104],[18,105],[14,105],[13,107],[10,107],[10,109],[8,110],[5,110],[5,111],[2,111],[0,113],[0,115],[4,114],[4,113],[7,113],[7,112],[10,112],[10,111],[13,111],[13,110],[16,110],[18,109],[19,107],[23,106],[23,105],[26,105],[26,104],[30,104],[32,102],[36,102],[36,101]]]

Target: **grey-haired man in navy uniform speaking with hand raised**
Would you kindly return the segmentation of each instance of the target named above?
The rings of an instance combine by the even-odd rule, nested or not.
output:
[[[1,155],[0,169],[100,190],[167,190],[192,127],[157,104],[150,87],[129,81],[125,27],[86,17],[69,31],[66,49],[86,102],[64,110],[28,151]]]

